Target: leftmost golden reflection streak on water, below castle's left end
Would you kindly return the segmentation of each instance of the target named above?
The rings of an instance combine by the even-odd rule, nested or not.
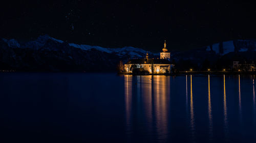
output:
[[[124,75],[125,120],[127,133],[131,133],[132,127],[132,78],[132,75]]]

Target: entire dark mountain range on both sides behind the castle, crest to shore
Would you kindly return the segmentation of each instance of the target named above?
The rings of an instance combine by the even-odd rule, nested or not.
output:
[[[220,42],[184,52],[171,52],[180,70],[222,68],[232,61],[255,61],[255,40]],[[147,51],[135,47],[103,48],[61,41],[48,35],[24,42],[0,38],[0,70],[16,71],[115,71],[117,63],[141,59]],[[159,53],[150,58],[159,58]]]

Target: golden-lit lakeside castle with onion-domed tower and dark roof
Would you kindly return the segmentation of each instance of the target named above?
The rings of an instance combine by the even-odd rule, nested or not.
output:
[[[160,52],[160,59],[149,59],[148,53],[146,53],[144,59],[133,59],[124,64],[124,71],[132,73],[134,69],[138,69],[139,71],[152,73],[152,69],[154,69],[153,73],[156,74],[170,73],[174,65],[170,62],[170,53],[166,51],[166,42],[164,42],[163,52]]]

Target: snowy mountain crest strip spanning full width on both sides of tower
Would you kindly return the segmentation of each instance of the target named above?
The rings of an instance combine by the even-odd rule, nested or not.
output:
[[[36,40],[25,42],[25,44],[20,44],[15,39],[5,39],[2,38],[3,41],[8,43],[8,46],[14,47],[14,48],[33,48],[33,49],[39,49],[42,46],[44,46],[45,42],[47,40],[53,40],[58,43],[63,43],[64,41],[50,37],[48,35],[42,35],[39,36]],[[220,44],[223,44],[223,51],[220,49]],[[146,51],[141,48],[136,48],[132,46],[125,46],[122,48],[104,48],[101,46],[91,46],[91,45],[81,45],[81,44],[75,44],[75,43],[69,43],[71,47],[80,48],[82,50],[90,50],[90,49],[97,49],[102,52],[107,53],[115,53],[118,56],[123,56],[125,54],[130,54],[131,58],[143,58],[145,53],[149,53],[152,55],[159,55],[159,53],[152,53],[150,51]],[[211,48],[212,46],[212,48]],[[243,51],[256,51],[256,40],[229,40],[229,41],[223,41],[219,43],[214,43],[208,46],[199,47],[197,49],[206,48],[206,51],[215,51],[216,54],[225,55],[229,52],[243,52]],[[197,49],[191,49],[191,50],[197,50]],[[169,49],[170,50],[170,49]],[[187,50],[190,51],[190,50]],[[174,51],[174,52],[186,52],[186,51]]]

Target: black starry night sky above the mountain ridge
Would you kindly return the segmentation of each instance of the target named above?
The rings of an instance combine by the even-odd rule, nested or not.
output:
[[[102,47],[186,50],[256,38],[256,6],[233,1],[8,1],[0,6],[0,37],[48,34]]]

